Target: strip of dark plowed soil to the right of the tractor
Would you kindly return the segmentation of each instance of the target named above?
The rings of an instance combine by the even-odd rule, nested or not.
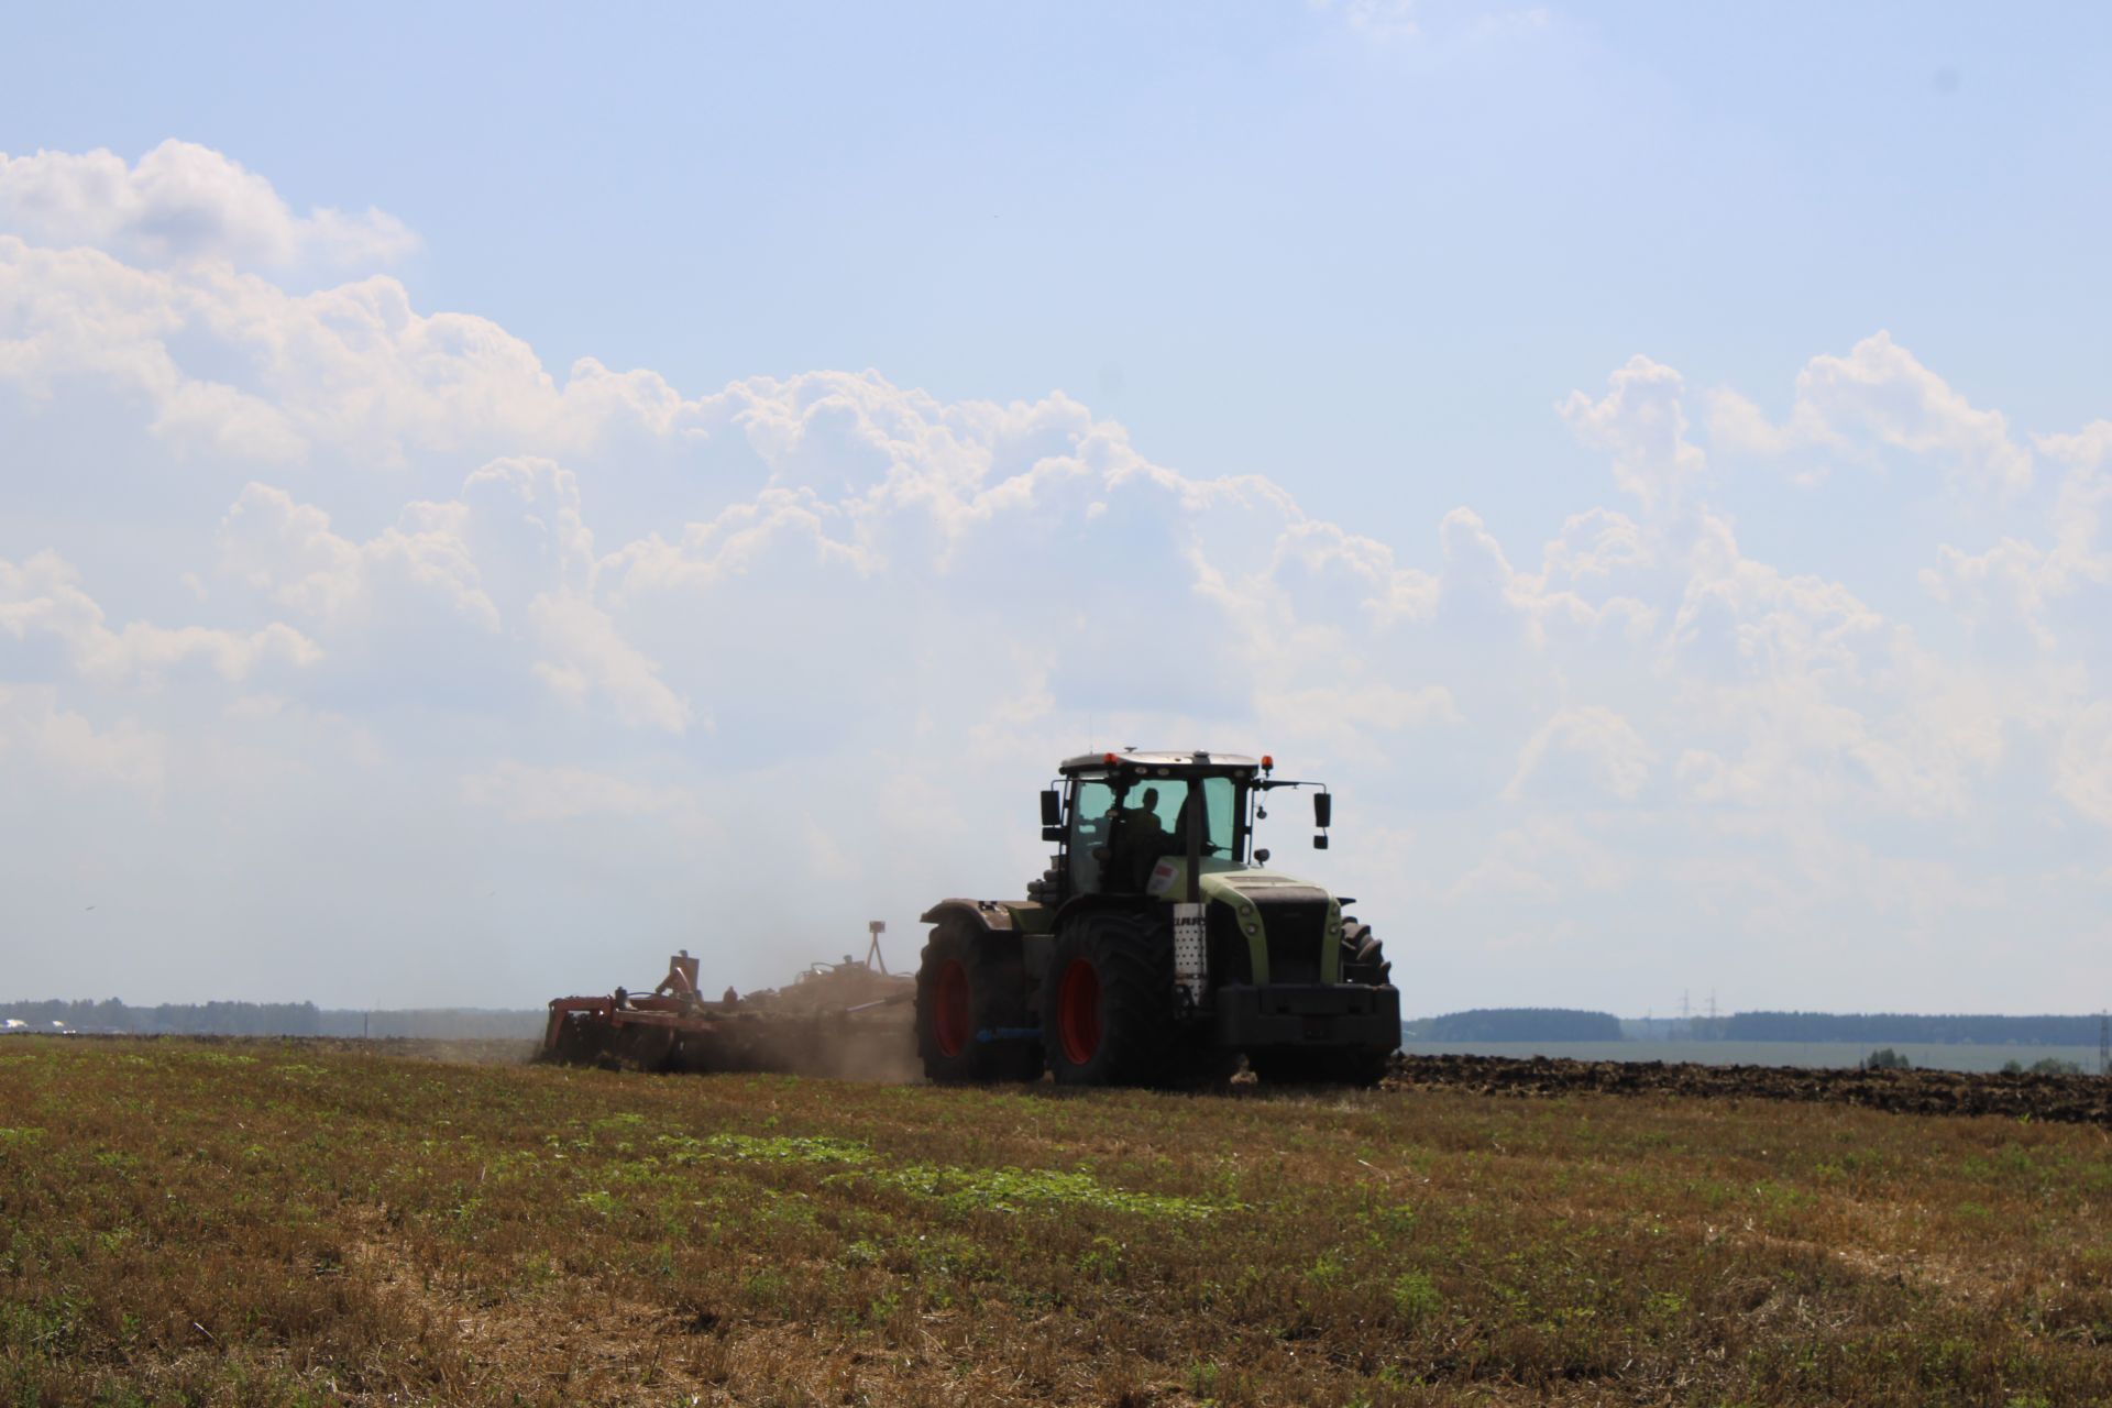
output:
[[[2009,1115],[2074,1125],[2112,1125],[2112,1081],[2104,1077],[1571,1062],[1546,1055],[1531,1060],[1394,1055],[1385,1085],[1390,1089],[1453,1087],[1487,1096],[1605,1093],[1802,1100],[1899,1115]]]

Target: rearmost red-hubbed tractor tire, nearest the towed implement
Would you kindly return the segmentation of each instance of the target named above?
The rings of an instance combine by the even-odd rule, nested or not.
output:
[[[1022,1030],[1026,965],[1010,933],[976,933],[961,920],[931,929],[917,965],[917,1055],[942,1085],[1041,1079],[1033,1039],[984,1039]]]

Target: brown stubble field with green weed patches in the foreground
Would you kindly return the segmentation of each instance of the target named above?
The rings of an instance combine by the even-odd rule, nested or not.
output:
[[[0,1045],[11,1404],[2087,1404],[2097,1125]]]

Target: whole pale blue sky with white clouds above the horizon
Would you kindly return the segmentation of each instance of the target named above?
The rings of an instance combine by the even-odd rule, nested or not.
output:
[[[2101,6],[0,49],[0,998],[530,1007],[1337,792],[1402,1009],[2112,1003]]]

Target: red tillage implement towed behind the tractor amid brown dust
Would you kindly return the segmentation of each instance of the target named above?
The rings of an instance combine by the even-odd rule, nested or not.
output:
[[[636,1070],[887,1074],[904,1064],[917,986],[889,973],[879,931],[864,960],[809,965],[786,988],[710,998],[689,950],[653,992],[560,996],[541,1060]]]

